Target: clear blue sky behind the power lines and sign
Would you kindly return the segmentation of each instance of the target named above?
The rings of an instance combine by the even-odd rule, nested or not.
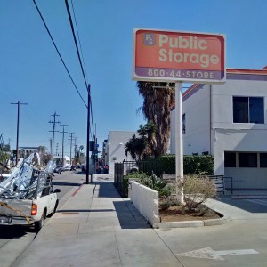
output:
[[[72,0],[85,70],[91,84],[98,142],[111,130],[136,131],[142,106],[132,80],[134,28],[158,28],[226,35],[226,67],[267,65],[266,0]],[[87,93],[63,0],[36,0],[63,60],[85,101]],[[71,1],[69,0],[69,6]],[[64,69],[30,0],[0,1],[0,134],[16,146],[17,105],[20,146],[50,149],[55,111],[78,145],[86,144],[86,108]],[[57,131],[62,131],[59,124]],[[65,135],[69,155],[69,134]],[[55,133],[61,153],[62,134]]]

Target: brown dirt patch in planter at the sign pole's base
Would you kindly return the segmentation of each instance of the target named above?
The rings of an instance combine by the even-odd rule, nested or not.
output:
[[[189,211],[182,206],[170,206],[167,210],[159,209],[159,222],[203,221],[223,217],[222,214],[218,214],[208,207],[205,207],[204,212],[203,208],[202,206],[201,210],[196,210],[194,213],[189,213]]]

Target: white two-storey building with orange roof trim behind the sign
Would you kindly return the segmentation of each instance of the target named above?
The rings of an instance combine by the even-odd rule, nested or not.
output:
[[[171,121],[174,153],[174,111]],[[227,69],[224,85],[183,93],[183,152],[214,155],[234,189],[267,189],[267,69]]]

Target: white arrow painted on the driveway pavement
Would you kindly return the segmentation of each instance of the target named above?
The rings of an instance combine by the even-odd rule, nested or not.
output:
[[[239,250],[219,250],[214,251],[211,247],[204,247],[198,250],[193,250],[178,255],[191,258],[201,258],[201,259],[211,259],[211,260],[220,260],[224,261],[223,255],[250,255],[250,254],[259,254],[254,249],[239,249]]]

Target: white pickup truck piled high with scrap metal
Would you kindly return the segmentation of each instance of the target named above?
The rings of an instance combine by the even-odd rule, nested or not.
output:
[[[61,190],[53,190],[53,165],[48,171],[39,171],[28,162],[16,166],[10,177],[0,182],[0,225],[34,225],[39,231],[46,216],[55,213]]]

